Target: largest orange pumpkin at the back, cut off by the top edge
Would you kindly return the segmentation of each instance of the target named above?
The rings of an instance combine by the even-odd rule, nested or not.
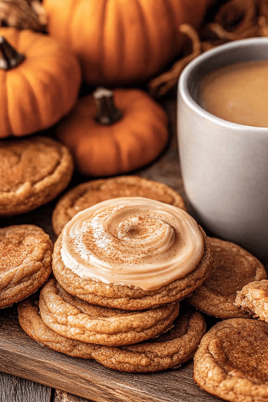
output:
[[[44,0],[48,32],[74,49],[91,85],[143,82],[172,61],[215,0]]]

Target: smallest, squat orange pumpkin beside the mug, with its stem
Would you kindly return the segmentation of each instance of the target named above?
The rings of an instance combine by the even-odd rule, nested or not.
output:
[[[74,154],[80,173],[112,176],[152,162],[168,141],[167,122],[165,111],[145,92],[99,88],[78,100],[56,134]]]

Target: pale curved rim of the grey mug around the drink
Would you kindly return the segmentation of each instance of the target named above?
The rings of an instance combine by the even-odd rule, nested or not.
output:
[[[258,45],[258,43],[267,43],[267,48],[268,48],[268,37],[254,37],[254,38],[246,38],[246,39],[238,39],[235,41],[231,41],[228,43],[224,43],[223,45],[219,45],[217,47],[214,47],[213,49],[210,49],[208,51],[205,51],[204,53],[198,55],[193,59],[187,66],[182,70],[180,74],[180,78],[178,80],[178,98],[179,96],[182,97],[184,102],[188,107],[190,107],[195,113],[197,113],[199,116],[209,120],[212,123],[215,123],[221,127],[225,127],[228,129],[234,129],[234,130],[242,130],[242,131],[249,131],[250,128],[254,129],[254,131],[259,131],[261,133],[265,133],[268,131],[268,127],[256,127],[256,126],[250,126],[250,125],[243,125],[239,123],[233,123],[232,121],[227,121],[224,119],[221,119],[220,117],[217,117],[205,109],[203,109],[196,101],[192,98],[190,95],[190,92],[188,90],[188,78],[190,73],[198,64],[204,62],[206,59],[209,59],[213,55],[217,55],[217,53],[223,53],[227,52],[229,49],[233,49],[236,47],[246,47],[248,45]],[[268,49],[267,49],[268,50]],[[268,52],[267,52],[268,53]],[[268,60],[268,57],[267,57]]]

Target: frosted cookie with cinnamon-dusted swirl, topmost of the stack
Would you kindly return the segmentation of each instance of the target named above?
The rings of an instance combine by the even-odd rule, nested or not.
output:
[[[121,197],[84,209],[65,225],[52,269],[59,284],[80,299],[143,310],[192,293],[212,262],[207,236],[187,212]]]

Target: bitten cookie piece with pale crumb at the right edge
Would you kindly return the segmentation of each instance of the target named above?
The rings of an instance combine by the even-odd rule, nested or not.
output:
[[[237,292],[235,306],[268,322],[268,280],[245,285]]]

